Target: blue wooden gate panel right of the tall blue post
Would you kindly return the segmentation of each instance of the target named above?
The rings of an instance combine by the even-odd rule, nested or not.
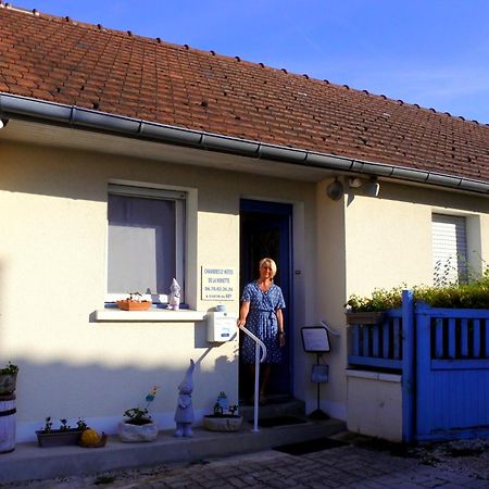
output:
[[[489,434],[489,311],[415,308],[417,440]]]

